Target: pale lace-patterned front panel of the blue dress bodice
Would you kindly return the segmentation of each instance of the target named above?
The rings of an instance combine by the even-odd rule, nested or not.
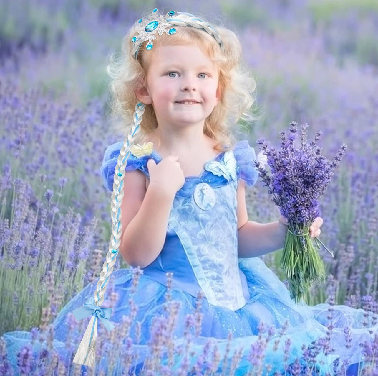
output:
[[[232,151],[219,162],[208,162],[205,169],[229,183],[214,189],[215,202],[206,210],[195,202],[194,195],[176,195],[168,225],[180,238],[209,303],[237,310],[249,295],[237,257],[237,176]]]

